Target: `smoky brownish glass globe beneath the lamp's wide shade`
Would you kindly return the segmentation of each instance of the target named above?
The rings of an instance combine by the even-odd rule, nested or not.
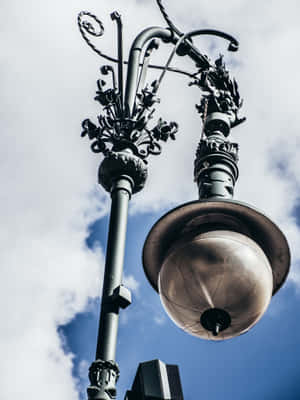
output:
[[[217,230],[170,248],[158,279],[162,303],[186,332],[224,340],[248,331],[272,297],[267,257],[249,237]]]

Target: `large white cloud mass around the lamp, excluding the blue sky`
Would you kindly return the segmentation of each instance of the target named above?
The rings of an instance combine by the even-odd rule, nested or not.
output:
[[[299,4],[231,0],[216,6],[203,0],[199,6],[187,0],[184,10],[179,1],[166,6],[183,28],[209,21],[240,39],[234,55],[240,65],[233,72],[248,121],[233,134],[241,147],[236,197],[266,211],[286,232],[294,255],[291,277],[299,285],[299,229],[291,215],[300,184],[300,56],[294,46]],[[64,353],[57,327],[99,293],[102,252],[89,250],[84,241],[88,224],[107,212],[108,197],[95,187],[99,158],[79,131],[82,119],[95,119],[98,112],[92,98],[102,60],[77,31],[76,15],[85,8],[105,22],[105,37],[98,42],[108,53],[116,53],[109,19],[114,9],[123,15],[126,49],[147,23],[163,24],[154,2],[2,3],[1,398],[34,400],[43,393],[45,400],[76,399],[72,357]],[[201,40],[202,48],[208,43]],[[225,48],[222,41],[218,46]],[[194,111],[199,93],[169,75],[161,93],[156,116],[177,120],[180,133],[150,160],[147,187],[133,199],[135,211],[197,197],[192,153],[201,130]],[[284,165],[285,174],[276,163]],[[133,277],[129,285],[138,289]]]

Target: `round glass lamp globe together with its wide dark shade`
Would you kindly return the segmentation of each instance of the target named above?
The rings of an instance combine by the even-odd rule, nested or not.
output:
[[[287,277],[290,251],[260,211],[235,200],[206,199],[156,222],[143,265],[175,324],[203,339],[224,340],[262,317]]]

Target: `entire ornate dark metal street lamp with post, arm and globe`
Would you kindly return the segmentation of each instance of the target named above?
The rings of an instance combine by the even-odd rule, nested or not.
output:
[[[289,248],[279,228],[253,207],[232,200],[238,178],[238,145],[228,140],[233,127],[244,121],[238,86],[220,56],[214,63],[193,45],[192,37],[214,35],[238,42],[230,35],[201,29],[183,34],[172,23],[161,0],[156,0],[168,27],[150,27],[134,40],[128,61],[123,60],[122,21],[118,28],[118,57],[103,54],[90,41],[102,36],[100,20],[89,12],[78,16],[80,32],[90,47],[118,64],[101,67],[112,86],[100,78],[95,97],[103,112],[98,124],[82,123],[95,153],[102,153],[99,183],[111,194],[111,215],[106,253],[101,314],[95,362],[89,372],[89,399],[116,397],[119,369],[115,362],[120,308],[131,303],[122,285],[128,203],[147,178],[147,157],[161,152],[161,141],[175,139],[178,126],[159,119],[151,125],[159,86],[167,71],[184,74],[202,94],[197,110],[203,131],[195,160],[199,200],[184,204],[163,216],[152,228],[143,251],[145,273],[162,303],[182,329],[192,335],[223,340],[249,330],[263,315],[272,295],[283,284],[289,269]],[[98,24],[98,27],[96,27]],[[165,66],[151,65],[159,42],[174,48]],[[195,71],[172,68],[174,56],[189,57]],[[124,90],[123,67],[127,64]],[[151,85],[148,68],[161,70]]]

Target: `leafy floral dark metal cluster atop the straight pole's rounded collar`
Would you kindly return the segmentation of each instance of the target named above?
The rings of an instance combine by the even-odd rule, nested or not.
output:
[[[142,89],[137,94],[133,117],[124,118],[112,67],[103,66],[101,72],[106,75],[111,73],[113,88],[105,90],[105,81],[102,79],[97,81],[98,90],[95,100],[103,107],[104,114],[98,116],[98,126],[90,119],[84,120],[81,136],[88,135],[92,141],[92,151],[103,153],[105,156],[112,151],[130,149],[134,155],[146,162],[149,154],[160,154],[159,142],[166,142],[169,138],[175,140],[178,125],[176,122],[168,123],[160,118],[152,129],[148,128],[148,123],[155,111],[153,106],[160,101],[153,93],[153,89],[148,86]]]

